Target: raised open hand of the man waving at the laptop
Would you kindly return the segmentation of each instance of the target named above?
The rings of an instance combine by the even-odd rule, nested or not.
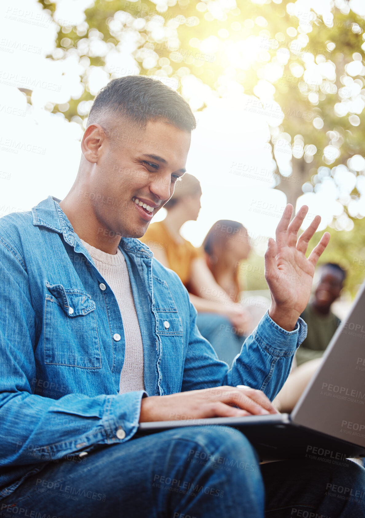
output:
[[[276,227],[276,241],[269,239],[265,253],[265,278],[271,293],[269,315],[280,327],[291,331],[298,316],[308,304],[314,269],[325,250],[329,232],[325,232],[308,259],[308,243],[320,223],[316,216],[310,226],[297,237],[308,207],[303,205],[290,223],[293,205],[288,204]]]

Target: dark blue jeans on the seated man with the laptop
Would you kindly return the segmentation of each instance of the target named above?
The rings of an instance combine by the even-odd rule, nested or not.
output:
[[[364,488],[351,461],[259,465],[239,431],[187,427],[49,462],[0,501],[0,516],[363,518]]]

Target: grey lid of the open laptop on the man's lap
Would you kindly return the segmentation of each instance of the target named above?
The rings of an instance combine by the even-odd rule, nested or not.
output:
[[[365,447],[365,281],[290,419]]]

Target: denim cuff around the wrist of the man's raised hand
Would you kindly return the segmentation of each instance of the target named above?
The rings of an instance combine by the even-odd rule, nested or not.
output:
[[[254,330],[254,334],[255,339],[270,354],[291,356],[306,337],[306,323],[299,316],[293,331],[287,331],[276,324],[267,311]]]

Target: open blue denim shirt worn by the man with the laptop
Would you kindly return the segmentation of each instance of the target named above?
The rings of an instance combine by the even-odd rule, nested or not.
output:
[[[0,499],[49,461],[128,441],[142,396],[243,384],[273,399],[306,336],[302,319],[287,332],[266,313],[229,368],[200,335],[179,277],[122,238],[145,392],[119,394],[119,306],[58,202],[0,218]]]

